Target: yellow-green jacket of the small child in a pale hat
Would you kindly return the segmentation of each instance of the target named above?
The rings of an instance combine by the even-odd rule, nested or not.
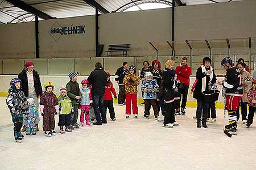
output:
[[[69,99],[69,97],[67,95],[59,96],[57,100],[58,100],[58,105],[59,105],[59,109],[60,109],[59,114],[71,113],[73,107],[72,107],[71,100]]]

